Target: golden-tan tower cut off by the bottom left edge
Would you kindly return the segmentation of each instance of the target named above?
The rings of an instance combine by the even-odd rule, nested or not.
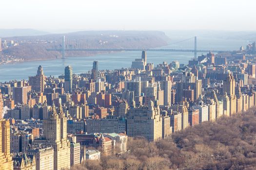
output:
[[[0,119],[0,170],[13,170],[10,153],[10,122]]]

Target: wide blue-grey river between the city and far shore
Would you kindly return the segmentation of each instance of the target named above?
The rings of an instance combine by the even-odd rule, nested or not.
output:
[[[234,39],[198,38],[197,49],[200,50],[237,50],[241,45],[245,46],[246,41]],[[168,45],[161,48],[193,49],[187,45]],[[199,53],[198,53],[199,55]],[[85,73],[92,69],[93,61],[98,60],[98,69],[118,69],[131,67],[132,61],[141,57],[140,51],[125,51],[118,53],[99,54],[94,56],[67,57],[65,59],[22,62],[9,65],[0,65],[0,82],[9,80],[27,80],[28,76],[37,73],[39,65],[43,67],[46,76],[59,76],[64,74],[64,68],[72,66],[73,73]],[[163,61],[171,63],[178,60],[181,64],[188,64],[194,57],[192,52],[166,52],[147,51],[147,62],[156,66]]]

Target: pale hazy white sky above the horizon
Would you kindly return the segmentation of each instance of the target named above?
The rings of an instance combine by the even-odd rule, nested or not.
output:
[[[0,28],[256,30],[256,0],[1,0]]]

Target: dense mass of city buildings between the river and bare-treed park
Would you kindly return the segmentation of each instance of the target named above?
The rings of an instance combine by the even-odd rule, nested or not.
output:
[[[28,80],[1,82],[0,168],[96,170],[87,162],[133,154],[128,142],[138,137],[170,141],[188,128],[244,114],[256,106],[255,57],[255,42],[197,55],[186,65],[155,65],[142,51],[129,68],[99,70],[94,60],[87,73],[65,66],[64,74],[47,77],[39,66]]]

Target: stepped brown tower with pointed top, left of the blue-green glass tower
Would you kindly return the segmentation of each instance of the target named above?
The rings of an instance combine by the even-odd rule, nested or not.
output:
[[[38,72],[36,76],[29,77],[29,85],[31,85],[31,89],[36,92],[43,92],[44,90],[44,75],[43,69],[41,66],[38,67]]]

